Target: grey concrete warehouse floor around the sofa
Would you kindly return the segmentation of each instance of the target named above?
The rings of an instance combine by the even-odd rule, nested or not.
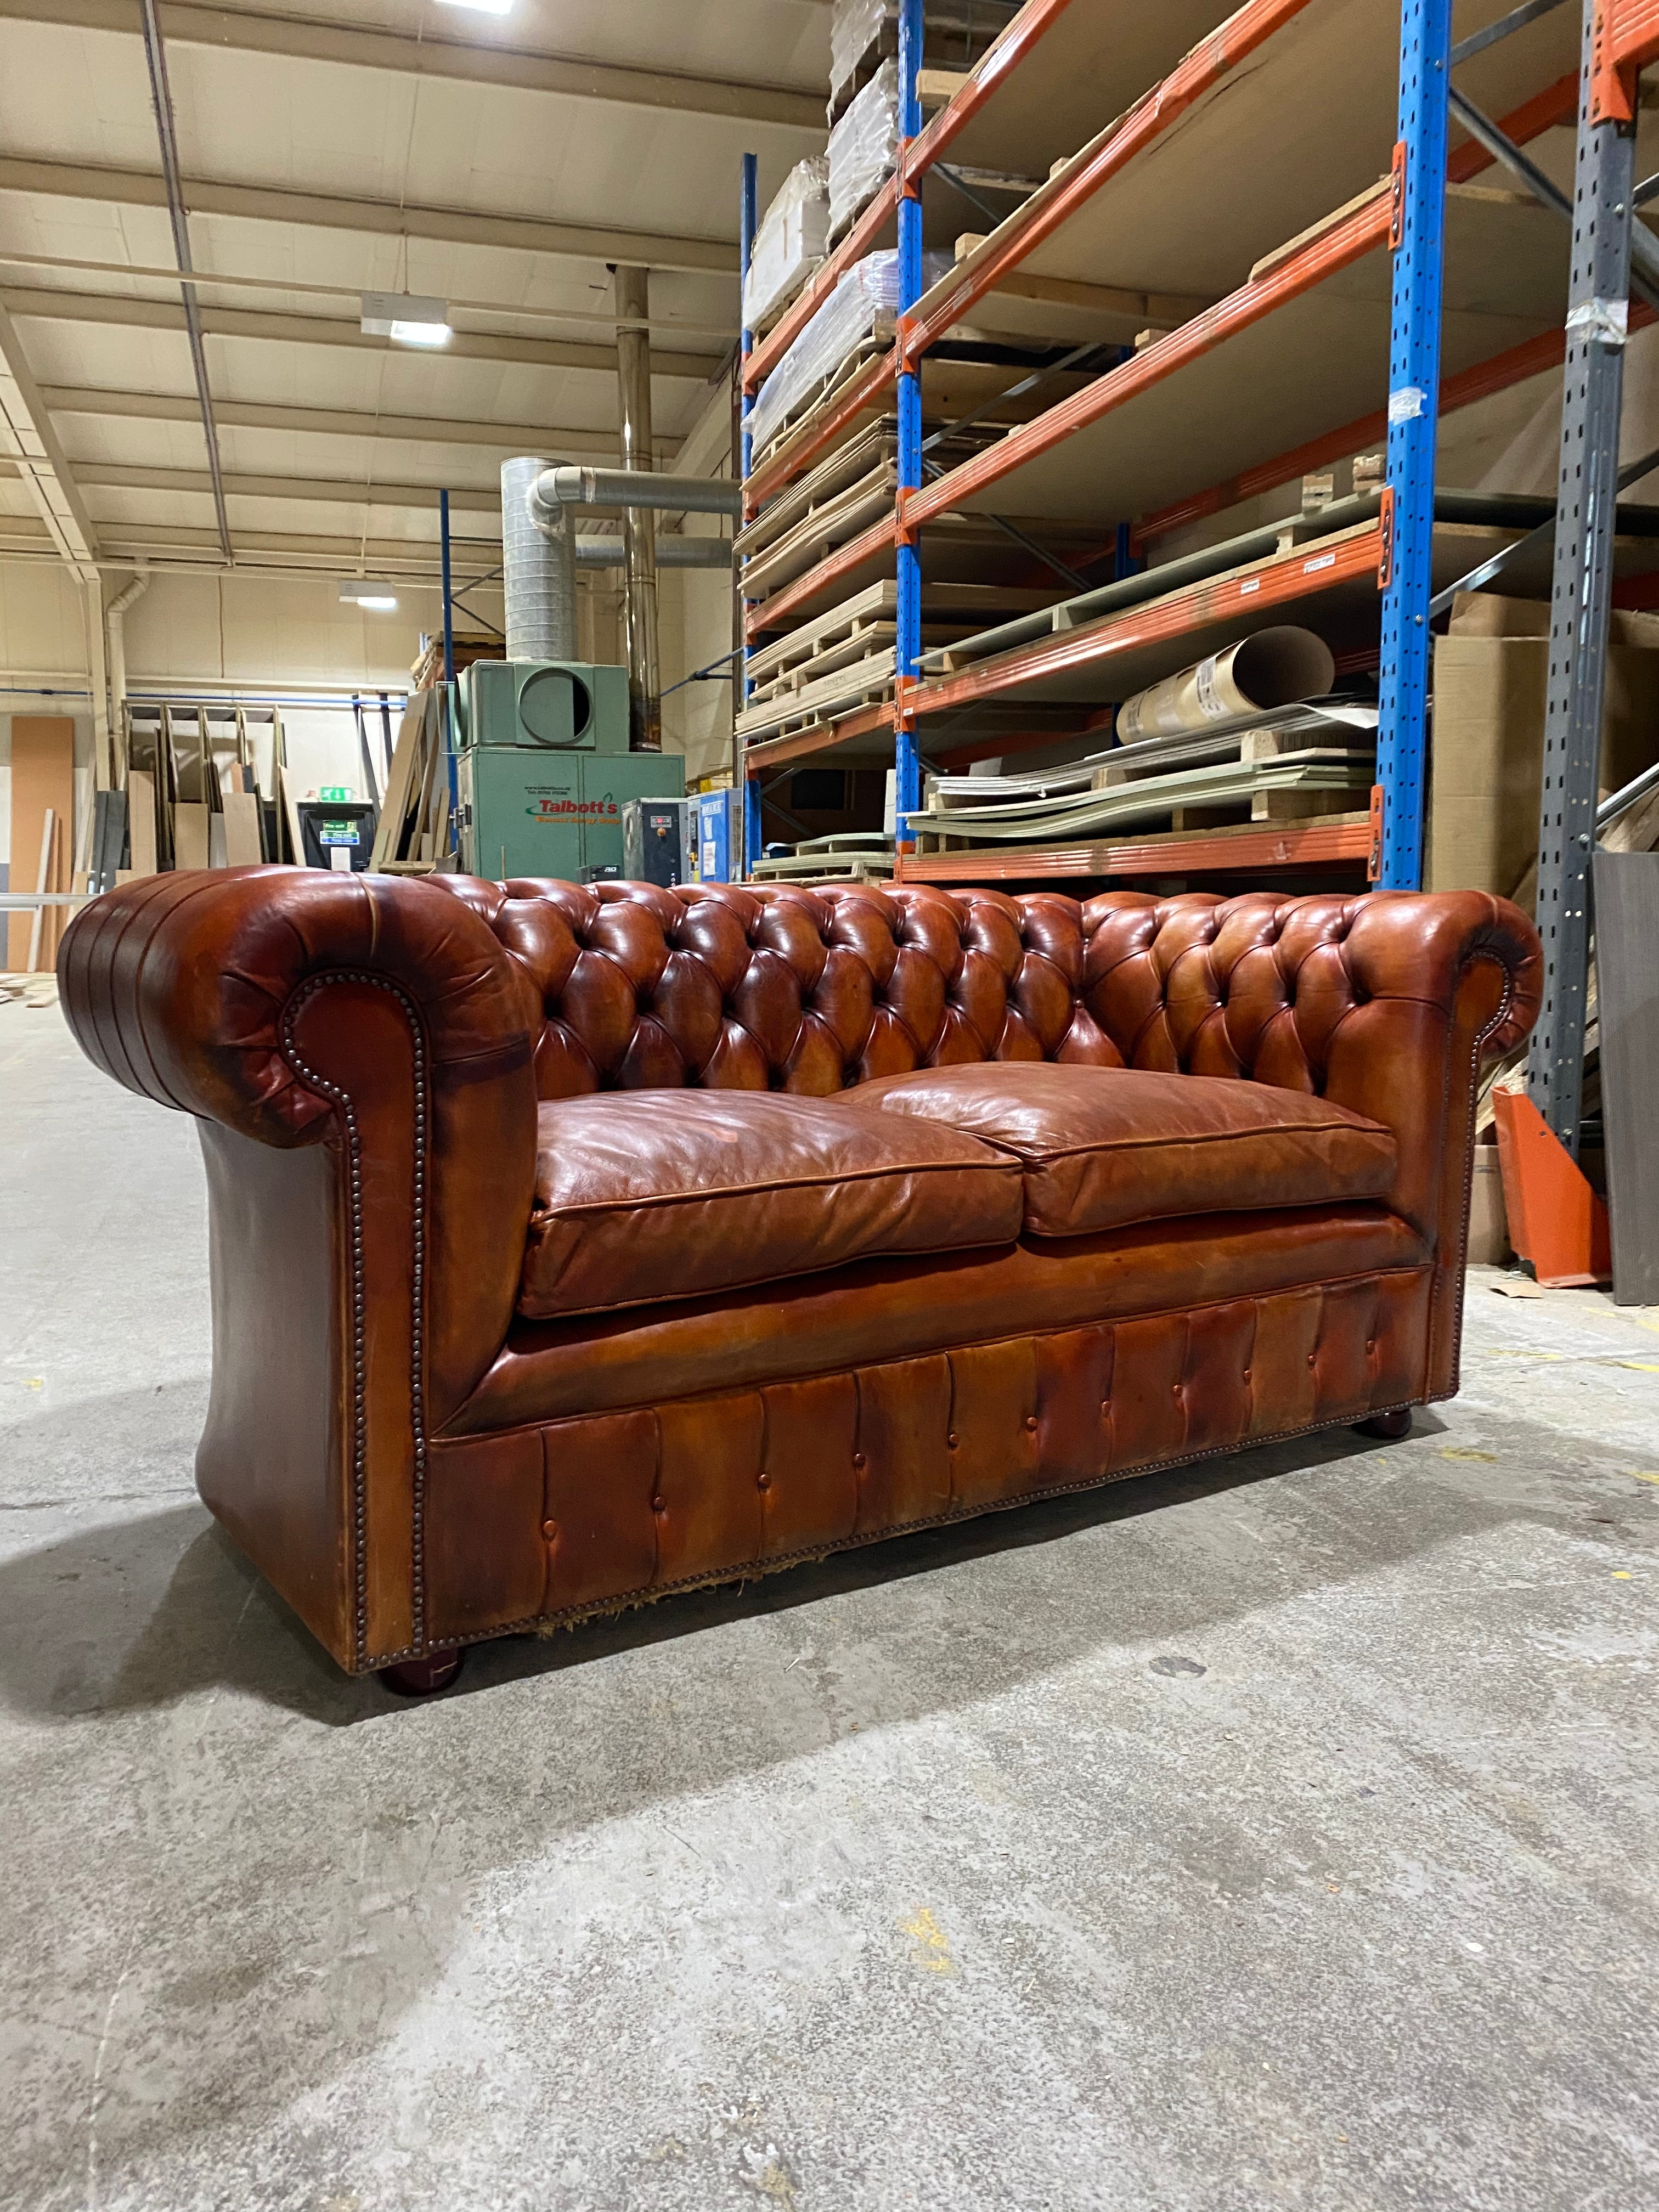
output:
[[[347,1683],[190,1489],[195,1135],[0,1006],[4,2205],[1659,2201],[1659,1316]]]

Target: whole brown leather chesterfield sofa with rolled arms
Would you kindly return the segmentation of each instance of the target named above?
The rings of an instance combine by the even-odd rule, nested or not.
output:
[[[219,869],[58,973],[197,1117],[201,1495],[352,1672],[1458,1389],[1515,907]]]

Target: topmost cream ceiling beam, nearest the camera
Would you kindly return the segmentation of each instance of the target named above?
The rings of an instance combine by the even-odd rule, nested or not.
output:
[[[509,91],[560,93],[568,100],[608,100],[670,115],[712,115],[728,122],[770,124],[823,135],[823,97],[779,84],[732,84],[688,77],[666,69],[582,62],[524,46],[482,44],[427,29],[420,38],[343,22],[305,22],[248,9],[161,7],[170,46],[217,46],[237,53],[290,55],[396,75],[458,84],[495,84]],[[0,0],[0,20],[51,22],[80,31],[133,33],[131,0]]]

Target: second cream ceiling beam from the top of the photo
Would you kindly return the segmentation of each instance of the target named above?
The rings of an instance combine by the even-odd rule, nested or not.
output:
[[[299,223],[307,230],[356,230],[367,237],[420,239],[434,246],[498,246],[560,261],[628,261],[688,276],[737,276],[737,246],[644,230],[551,223],[540,215],[491,215],[478,208],[427,208],[416,201],[358,199],[343,192],[294,192],[274,184],[181,179],[190,215],[226,215],[250,223]],[[166,208],[166,179],[142,168],[93,161],[0,159],[0,190],[46,199],[86,199],[111,208]],[[201,276],[210,283],[210,276]]]

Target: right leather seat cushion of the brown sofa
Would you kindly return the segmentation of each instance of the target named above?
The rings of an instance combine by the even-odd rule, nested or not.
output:
[[[1376,1121],[1223,1075],[980,1062],[860,1084],[847,1106],[1002,1146],[1024,1166],[1033,1237],[1383,1199],[1398,1166]]]

